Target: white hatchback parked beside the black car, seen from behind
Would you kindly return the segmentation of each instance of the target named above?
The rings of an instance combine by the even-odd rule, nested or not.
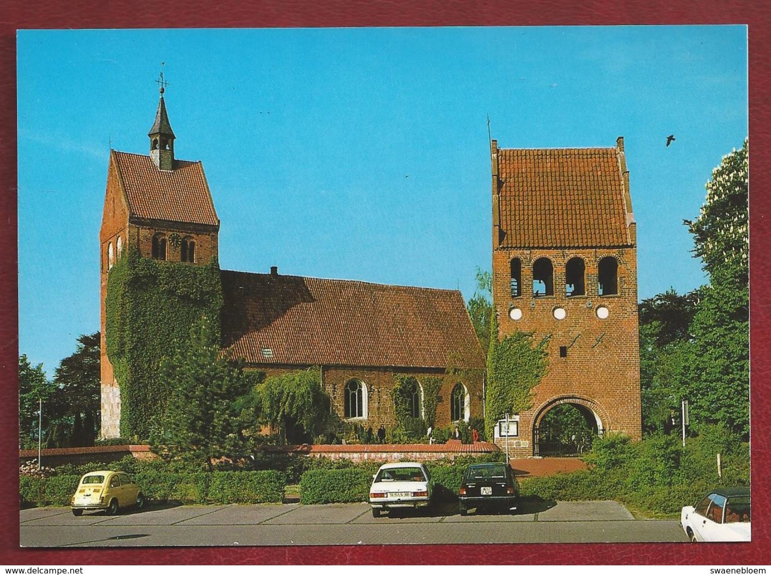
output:
[[[433,496],[433,482],[423,463],[386,463],[372,476],[369,504],[379,517],[394,507],[426,507]]]

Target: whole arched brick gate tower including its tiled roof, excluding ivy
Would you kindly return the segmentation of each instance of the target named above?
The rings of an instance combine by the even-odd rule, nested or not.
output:
[[[641,439],[637,237],[623,138],[612,148],[546,150],[492,140],[490,156],[499,337],[534,331],[549,341],[532,408],[501,434],[510,452],[540,455],[544,415],[564,403],[598,434]]]

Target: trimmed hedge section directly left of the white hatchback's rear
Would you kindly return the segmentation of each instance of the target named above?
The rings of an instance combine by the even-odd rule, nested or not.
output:
[[[300,479],[300,502],[357,503],[369,499],[372,466],[348,469],[311,469]]]

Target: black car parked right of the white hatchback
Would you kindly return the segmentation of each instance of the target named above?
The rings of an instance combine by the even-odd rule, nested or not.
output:
[[[520,485],[506,463],[475,463],[468,466],[460,485],[460,514],[481,507],[515,511]]]

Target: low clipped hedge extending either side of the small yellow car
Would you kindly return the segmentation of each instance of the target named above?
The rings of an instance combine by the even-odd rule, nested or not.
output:
[[[192,504],[281,503],[286,487],[284,472],[276,470],[169,473],[149,469],[133,479],[147,499]],[[76,475],[20,476],[19,494],[22,503],[68,506],[79,480]]]

